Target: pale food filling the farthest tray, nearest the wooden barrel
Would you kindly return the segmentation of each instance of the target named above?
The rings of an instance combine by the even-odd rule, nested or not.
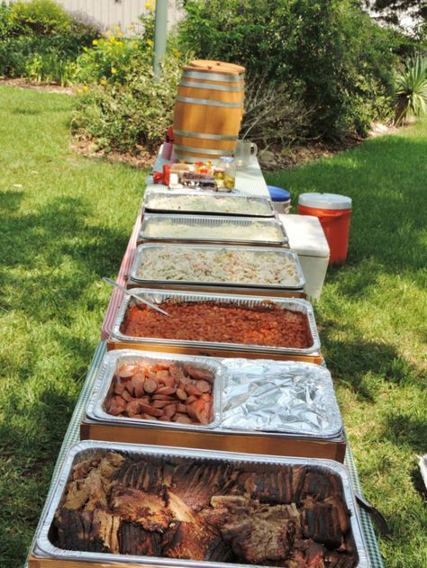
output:
[[[254,216],[271,214],[268,200],[223,195],[150,195],[146,205],[156,211],[235,213]]]

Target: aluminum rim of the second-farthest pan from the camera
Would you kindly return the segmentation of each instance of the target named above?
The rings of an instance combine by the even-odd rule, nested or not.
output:
[[[260,223],[261,225],[265,225],[267,227],[274,227],[280,231],[282,235],[282,239],[272,239],[272,240],[258,240],[258,239],[229,239],[225,235],[223,238],[209,238],[204,237],[200,239],[197,237],[197,240],[201,240],[204,242],[210,243],[236,243],[241,245],[261,245],[264,247],[271,247],[277,245],[286,245],[289,242],[289,239],[286,235],[285,227],[283,223],[277,221],[274,218],[264,218],[259,219],[257,217],[216,217],[213,215],[164,215],[161,213],[147,213],[144,215],[141,224],[141,230],[139,234],[140,240],[156,240],[156,241],[168,241],[168,242],[194,242],[195,238],[191,237],[150,237],[145,234],[145,230],[147,230],[147,226],[150,225],[150,222],[153,223],[155,221],[171,221],[172,224],[187,224],[194,227],[197,226],[205,226],[213,227],[218,225],[234,225],[234,226],[248,226],[251,223]]]

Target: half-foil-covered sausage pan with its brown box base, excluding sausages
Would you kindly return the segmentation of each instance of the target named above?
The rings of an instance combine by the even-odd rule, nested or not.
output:
[[[138,364],[195,365],[213,373],[209,424],[180,424],[109,412],[114,381]],[[104,356],[81,423],[82,439],[321,457],[343,462],[346,448],[331,374],[321,365],[177,356],[121,349]]]

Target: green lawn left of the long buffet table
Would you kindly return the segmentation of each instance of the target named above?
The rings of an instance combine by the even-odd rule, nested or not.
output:
[[[146,172],[68,150],[68,95],[0,87],[0,566],[27,554]]]

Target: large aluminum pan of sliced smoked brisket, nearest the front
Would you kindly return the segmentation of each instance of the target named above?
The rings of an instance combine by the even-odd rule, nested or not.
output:
[[[92,487],[87,482],[88,471],[116,482],[104,485],[104,506],[89,508],[87,503],[95,501],[92,494],[86,504],[75,502],[73,509],[68,491],[77,490],[78,494],[85,483]],[[211,481],[204,480],[204,473]],[[250,486],[245,483],[248,479]],[[148,493],[144,492],[146,483]],[[228,492],[228,498],[227,486],[235,488]],[[132,511],[124,502],[127,493],[150,497],[156,517],[150,517],[148,509],[148,513],[132,521]],[[328,502],[333,505],[326,505]],[[232,515],[237,525],[236,530],[229,530],[229,536],[221,530],[227,520],[218,517],[219,509],[215,509],[224,503],[229,509],[222,509],[223,515]],[[202,508],[205,514],[212,511],[216,515],[218,528],[208,527],[208,517],[197,512]],[[327,512],[331,509],[333,515]],[[268,524],[264,538],[259,535],[258,517],[262,511],[263,522]],[[270,526],[275,514],[281,519],[280,528]],[[75,524],[68,525],[68,520]],[[154,521],[163,523],[162,527],[150,525],[149,531],[143,528],[144,523]],[[108,530],[103,532],[107,524]],[[279,530],[277,538],[283,544],[277,546],[272,539],[266,548],[271,530]],[[294,534],[313,544],[301,552],[301,541]],[[314,538],[325,545],[314,542]],[[275,546],[272,553],[271,546]],[[84,441],[70,448],[61,466],[58,482],[42,513],[29,567],[250,568],[259,566],[261,559],[263,565],[277,565],[276,551],[283,555],[282,546],[286,546],[285,554],[323,554],[333,556],[335,562],[338,557],[339,562],[345,562],[340,563],[343,566],[371,566],[350,476],[342,464],[313,458]],[[249,555],[250,563],[245,563]],[[268,559],[268,555],[276,558]]]

